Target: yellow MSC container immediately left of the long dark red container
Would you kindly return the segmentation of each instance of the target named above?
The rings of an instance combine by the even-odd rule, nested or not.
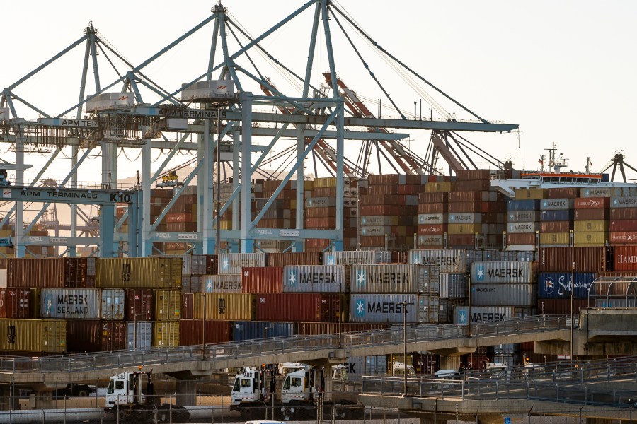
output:
[[[256,294],[195,293],[193,318],[252,321],[256,318]]]

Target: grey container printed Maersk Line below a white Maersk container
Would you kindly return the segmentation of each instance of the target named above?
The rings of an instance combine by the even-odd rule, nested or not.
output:
[[[537,298],[534,284],[472,284],[471,305],[533,306]]]

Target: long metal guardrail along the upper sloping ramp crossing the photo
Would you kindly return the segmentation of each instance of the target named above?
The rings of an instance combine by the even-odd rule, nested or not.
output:
[[[484,338],[515,334],[539,334],[546,331],[567,329],[565,317],[524,317],[502,322],[473,324],[434,325],[418,324],[408,326],[407,342],[439,341],[464,338]],[[340,337],[341,348],[361,346],[399,345],[404,343],[403,327],[391,329],[345,333]],[[309,352],[320,349],[336,349],[338,334],[321,336],[285,336],[234,343],[214,343],[205,346],[185,346],[177,348],[151,348],[144,351],[113,351],[76,355],[47,357],[0,358],[1,372],[82,372],[138,365],[158,365],[166,363],[192,362],[193,360],[239,359],[281,353]],[[397,352],[401,351],[397,348]]]

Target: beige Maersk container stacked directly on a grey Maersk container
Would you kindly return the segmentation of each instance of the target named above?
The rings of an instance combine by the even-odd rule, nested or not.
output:
[[[420,293],[425,266],[418,264],[352,265],[350,293]],[[422,274],[422,275],[421,275]]]

